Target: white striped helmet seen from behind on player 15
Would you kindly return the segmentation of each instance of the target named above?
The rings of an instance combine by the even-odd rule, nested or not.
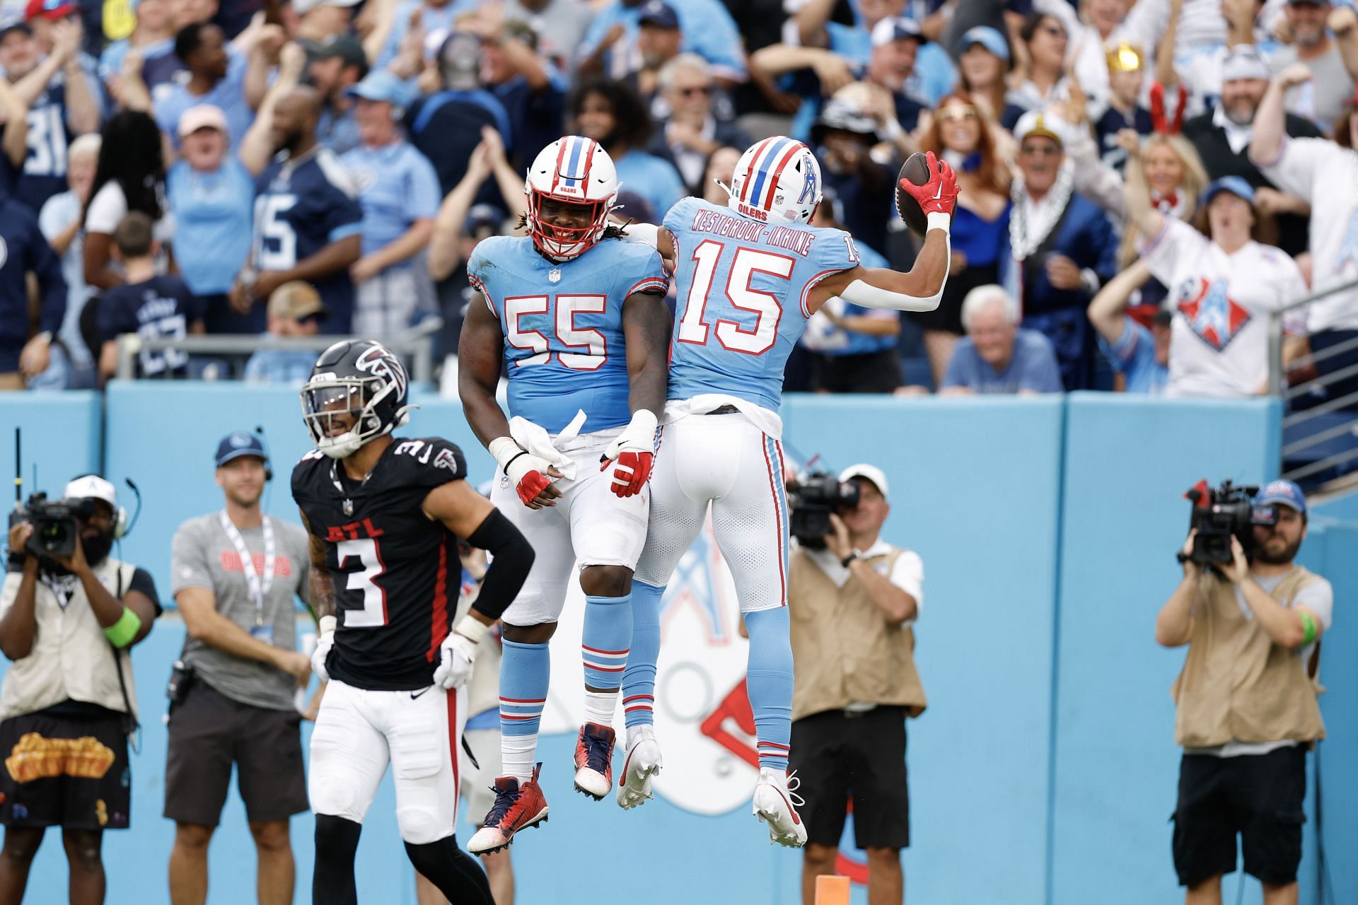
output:
[[[729,208],[746,217],[809,223],[822,198],[820,164],[794,138],[765,138],[740,155],[728,191]]]

